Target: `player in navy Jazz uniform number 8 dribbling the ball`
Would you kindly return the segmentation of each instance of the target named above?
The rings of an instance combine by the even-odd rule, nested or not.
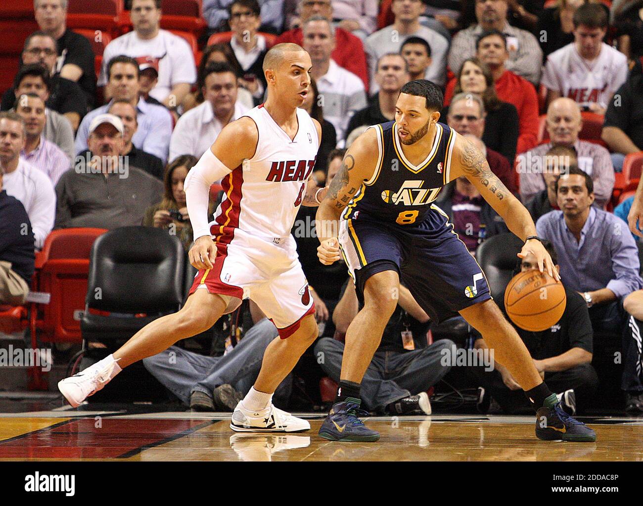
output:
[[[491,299],[482,269],[448,216],[432,204],[442,186],[467,177],[525,241],[518,257],[534,255],[540,271],[559,280],[529,212],[469,141],[438,122],[441,109],[442,92],[435,84],[405,84],[395,121],[369,127],[350,146],[317,212],[321,263],[332,264],[341,252],[363,301],[346,334],[337,399],[320,436],[379,439],[359,420],[359,388],[397,305],[402,279],[431,320],[459,313],[480,331],[534,406],[538,438],[595,441],[595,432],[569,417],[543,383],[523,341]]]

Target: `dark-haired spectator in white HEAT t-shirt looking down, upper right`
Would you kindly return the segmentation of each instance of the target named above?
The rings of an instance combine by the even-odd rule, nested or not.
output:
[[[602,40],[608,19],[604,6],[586,3],[574,12],[574,42],[547,57],[541,84],[547,87],[547,107],[564,96],[581,109],[605,114],[628,77],[628,59]]]

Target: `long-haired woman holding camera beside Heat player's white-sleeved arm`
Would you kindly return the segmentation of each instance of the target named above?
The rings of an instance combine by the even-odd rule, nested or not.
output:
[[[147,208],[143,218],[144,226],[168,230],[174,228],[174,235],[181,240],[185,251],[188,251],[190,244],[192,244],[192,224],[190,224],[188,208],[186,207],[183,183],[188,176],[188,171],[196,165],[197,161],[199,161],[198,158],[190,154],[184,154],[168,164],[165,169],[165,177],[163,177],[163,186],[165,188],[163,200]],[[214,204],[210,203],[208,216],[212,215],[213,207]]]

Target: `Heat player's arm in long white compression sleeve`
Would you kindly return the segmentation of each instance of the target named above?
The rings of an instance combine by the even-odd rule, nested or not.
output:
[[[257,141],[257,125],[250,118],[229,123],[185,178],[186,206],[194,230],[194,246],[188,256],[197,269],[212,269],[217,254],[208,226],[210,186],[235,168],[241,170],[239,166],[244,159],[255,154]]]

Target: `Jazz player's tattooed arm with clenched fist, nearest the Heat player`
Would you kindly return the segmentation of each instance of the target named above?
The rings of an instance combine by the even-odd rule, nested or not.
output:
[[[350,145],[340,170],[317,210],[315,226],[321,243],[317,248],[317,256],[322,264],[330,265],[340,259],[338,220],[362,183],[373,175],[376,163],[377,132],[368,129]]]

